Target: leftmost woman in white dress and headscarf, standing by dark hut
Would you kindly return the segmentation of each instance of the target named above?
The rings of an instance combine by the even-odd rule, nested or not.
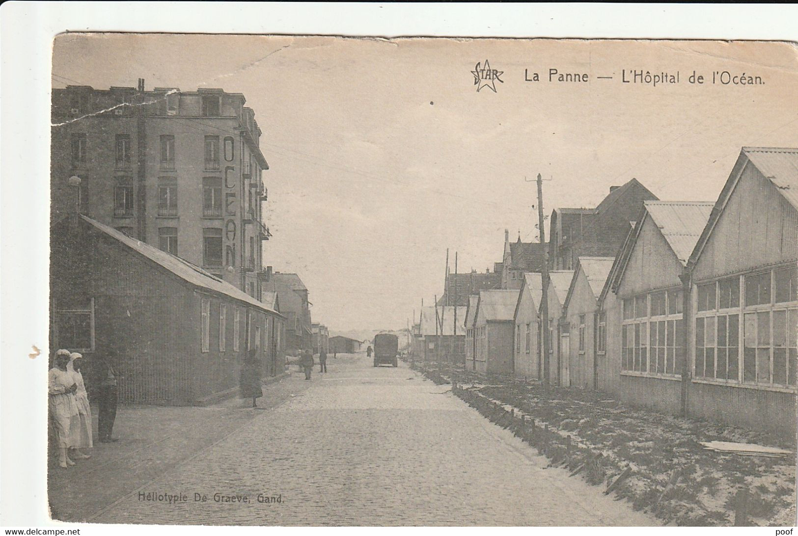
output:
[[[58,448],[58,465],[68,467],[75,463],[69,459],[69,426],[72,417],[77,415],[77,402],[75,392],[77,384],[72,374],[67,372],[66,364],[69,363],[69,351],[58,350],[53,359],[53,368],[50,369],[48,378],[49,392],[49,417],[55,432],[55,442]]]

